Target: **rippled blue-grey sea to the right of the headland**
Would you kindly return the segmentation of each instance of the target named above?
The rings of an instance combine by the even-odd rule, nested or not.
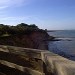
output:
[[[49,50],[63,57],[75,60],[75,30],[56,30],[48,32],[49,35],[60,39],[50,41]]]

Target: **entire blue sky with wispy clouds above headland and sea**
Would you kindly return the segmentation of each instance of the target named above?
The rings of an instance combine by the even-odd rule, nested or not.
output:
[[[75,0],[1,0],[0,24],[36,24],[41,29],[75,29]]]

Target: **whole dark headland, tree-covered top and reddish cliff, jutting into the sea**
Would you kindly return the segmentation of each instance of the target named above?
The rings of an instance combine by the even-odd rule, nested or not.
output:
[[[45,40],[49,37],[45,30],[35,24],[21,23],[16,26],[0,24],[0,44],[36,49],[47,49]]]

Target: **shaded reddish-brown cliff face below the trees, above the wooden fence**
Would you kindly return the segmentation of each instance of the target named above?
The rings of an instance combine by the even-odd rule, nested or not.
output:
[[[28,35],[2,37],[0,38],[0,44],[45,50],[47,49],[47,42],[44,40],[48,38],[49,35],[46,32],[35,31]]]

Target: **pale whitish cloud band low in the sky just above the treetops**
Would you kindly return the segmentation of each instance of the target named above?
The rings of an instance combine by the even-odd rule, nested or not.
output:
[[[18,23],[28,23],[33,24],[35,22],[40,23],[39,18],[36,18],[35,15],[28,15],[28,16],[4,16],[0,18],[1,24],[8,24],[8,25],[16,25]],[[35,23],[36,24],[36,23]],[[41,23],[40,23],[41,24]]]

